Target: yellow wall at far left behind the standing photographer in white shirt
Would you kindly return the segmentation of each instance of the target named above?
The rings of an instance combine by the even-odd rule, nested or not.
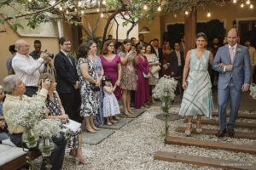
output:
[[[20,37],[7,22],[4,23],[6,32],[0,32],[0,83],[3,82],[3,77],[7,76],[6,60],[11,56],[9,53],[9,45],[15,44],[18,39],[24,39],[31,45],[30,51],[33,48],[34,40],[38,39],[42,42],[42,49],[48,49],[49,53],[57,54],[59,51],[58,38],[56,37]]]

